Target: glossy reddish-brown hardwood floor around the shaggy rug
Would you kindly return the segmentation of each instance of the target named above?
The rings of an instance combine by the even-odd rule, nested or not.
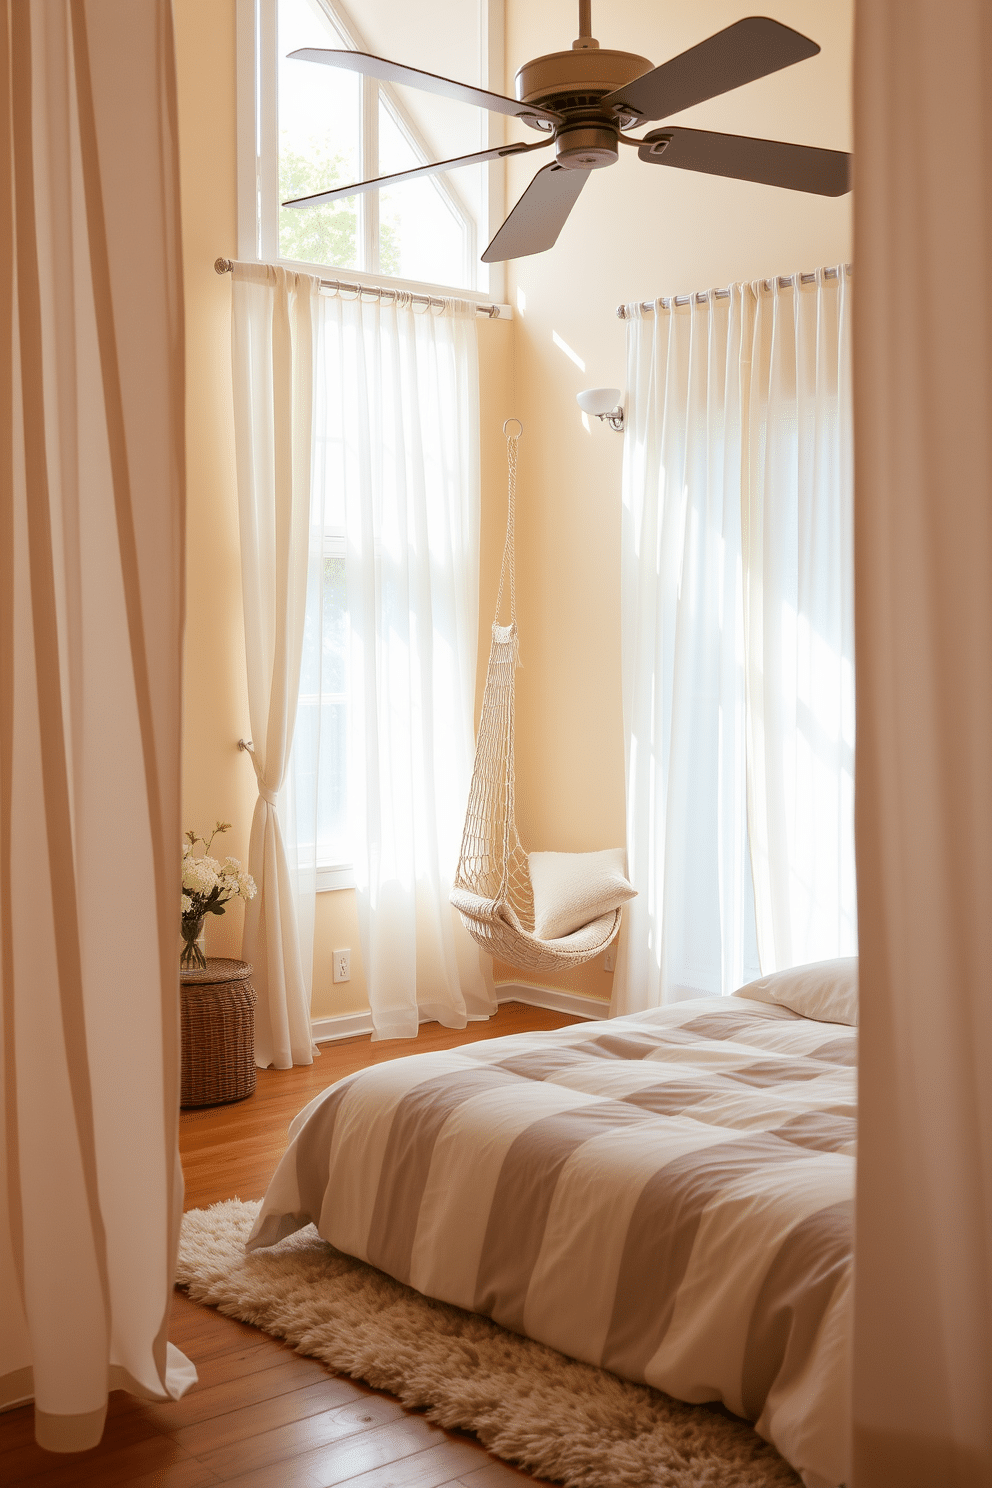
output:
[[[522,1003],[451,1031],[425,1024],[419,1039],[323,1045],[312,1065],[259,1070],[236,1106],[183,1112],[186,1208],[262,1198],[286,1131],[318,1091],[352,1070],[428,1049],[451,1049],[577,1022]],[[30,1406],[0,1415],[0,1484],[31,1488],[522,1488],[534,1482],[491,1457],[471,1434],[446,1431],[393,1396],[332,1375],[278,1339],[174,1295],[171,1341],[193,1360],[181,1400],[149,1405],[115,1391],[107,1428],[89,1452],[43,1452]]]

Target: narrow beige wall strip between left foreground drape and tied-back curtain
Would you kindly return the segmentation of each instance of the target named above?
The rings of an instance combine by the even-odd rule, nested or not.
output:
[[[186,281],[187,613],[183,821],[233,823],[223,854],[248,856],[254,805],[241,619],[231,394],[231,280],[236,254],[233,0],[174,0]],[[207,924],[211,955],[241,954],[242,909]]]

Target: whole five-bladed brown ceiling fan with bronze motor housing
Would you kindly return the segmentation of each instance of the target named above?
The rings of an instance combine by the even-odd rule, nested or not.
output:
[[[851,156],[842,150],[819,150],[781,140],[753,140],[742,134],[714,134],[684,125],[666,125],[641,137],[625,134],[631,126],[666,119],[705,98],[715,98],[756,77],[766,77],[815,57],[818,51],[815,42],[788,25],[751,15],[660,67],[651,67],[647,57],[601,48],[592,36],[592,0],[579,0],[579,39],[573,42],[571,51],[550,52],[525,62],[515,79],[516,98],[506,98],[485,88],[471,88],[367,52],[303,46],[290,52],[290,57],[364,73],[379,82],[406,83],[443,98],[477,104],[492,113],[510,115],[532,129],[543,131],[546,138],[534,144],[501,144],[491,150],[476,150],[474,155],[355,182],[352,186],[335,186],[333,190],[299,196],[283,205],[311,207],[419,176],[451,171],[460,165],[479,165],[483,161],[544,150],[553,144],[555,162],[537,173],[482,254],[483,263],[495,263],[544,253],[553,247],[589,173],[614,165],[620,144],[632,144],[638,158],[648,165],[732,176],[818,196],[842,196],[851,189]]]

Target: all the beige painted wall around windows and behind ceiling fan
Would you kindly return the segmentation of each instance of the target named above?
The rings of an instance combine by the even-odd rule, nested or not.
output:
[[[360,0],[352,0],[361,15]],[[225,850],[247,857],[254,783],[236,747],[248,734],[231,417],[231,281],[236,253],[233,0],[174,0],[178,51],[187,314],[189,610],[184,821],[233,823]],[[662,61],[735,21],[739,0],[613,0],[593,7],[604,46]],[[852,0],[764,6],[822,46],[819,57],[684,115],[700,128],[849,147]],[[507,91],[524,58],[567,49],[574,0],[507,0]],[[510,131],[512,137],[521,134]],[[534,162],[509,162],[516,201]],[[483,552],[480,676],[506,515],[503,420],[525,424],[519,476],[518,802],[531,848],[592,850],[623,841],[619,683],[619,539],[623,439],[584,429],[574,394],[625,382],[617,304],[791,272],[851,256],[851,204],[642,165],[625,152],[593,174],[556,248],[509,266],[513,321],[480,321]],[[553,339],[584,362],[580,369]],[[330,955],[352,949],[335,987]],[[236,955],[241,911],[208,926],[208,949]],[[495,969],[497,981],[513,981]],[[538,978],[608,997],[602,958]],[[354,894],[320,894],[314,1016],[366,1006]]]

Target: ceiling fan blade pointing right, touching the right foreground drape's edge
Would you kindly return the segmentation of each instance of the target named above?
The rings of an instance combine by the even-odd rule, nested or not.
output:
[[[812,144],[751,140],[744,134],[711,134],[709,129],[672,125],[645,134],[637,153],[650,165],[732,176],[815,196],[843,196],[851,190],[851,156],[843,150],[818,150]]]

